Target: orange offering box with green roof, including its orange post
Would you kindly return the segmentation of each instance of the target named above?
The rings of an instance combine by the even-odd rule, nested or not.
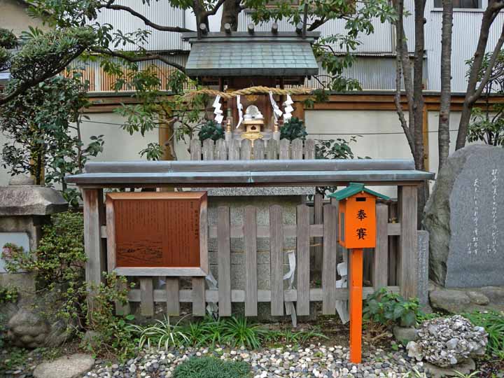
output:
[[[339,201],[338,242],[349,249],[350,277],[350,361],[362,359],[363,248],[376,246],[376,199],[388,197],[365,188],[362,183],[349,186],[329,197]]]

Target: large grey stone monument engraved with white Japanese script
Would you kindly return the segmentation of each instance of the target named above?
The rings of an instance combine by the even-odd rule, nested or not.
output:
[[[437,176],[423,223],[435,283],[504,286],[504,148],[472,145],[453,153]]]

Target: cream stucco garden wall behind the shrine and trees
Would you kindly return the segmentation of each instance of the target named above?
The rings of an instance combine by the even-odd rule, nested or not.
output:
[[[306,111],[306,124],[312,139],[349,139],[351,135],[362,135],[351,148],[356,157],[369,156],[372,159],[412,159],[406,137],[398,123],[395,111]],[[92,135],[104,134],[104,153],[96,160],[140,160],[139,151],[149,143],[158,142],[158,130],[147,132],[145,137],[139,133],[130,136],[120,129],[123,118],[115,113],[88,114],[90,120],[84,120],[82,133],[84,141]],[[437,173],[437,111],[428,113],[428,155],[429,170]],[[451,113],[451,146],[454,151],[456,130],[460,113]],[[0,148],[6,143],[6,137],[0,134]],[[188,144],[180,141],[176,144],[179,160],[188,160]],[[7,185],[10,176],[0,167],[0,186]],[[383,191],[383,190],[382,190]],[[386,190],[386,194],[395,196],[395,190]]]

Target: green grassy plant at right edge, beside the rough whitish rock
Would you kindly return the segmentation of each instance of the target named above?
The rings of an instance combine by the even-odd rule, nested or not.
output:
[[[489,335],[486,352],[504,358],[504,312],[472,312],[462,316],[486,330]]]

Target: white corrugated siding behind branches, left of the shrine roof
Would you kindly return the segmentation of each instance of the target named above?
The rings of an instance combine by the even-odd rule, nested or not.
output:
[[[140,0],[118,0],[119,5],[129,6],[137,12],[158,25],[184,27],[185,11],[169,6],[169,1],[151,1],[151,6],[147,6]],[[104,9],[98,15],[97,21],[100,24],[111,24],[115,29],[120,29],[123,33],[131,33],[139,29],[151,31],[148,36],[148,50],[182,50],[183,43],[181,34],[167,31],[158,31],[152,27],[146,27],[139,18],[130,15],[123,10]],[[90,22],[90,23],[93,23]],[[112,46],[111,46],[112,47]],[[127,44],[118,46],[122,50],[134,50],[134,45]]]

